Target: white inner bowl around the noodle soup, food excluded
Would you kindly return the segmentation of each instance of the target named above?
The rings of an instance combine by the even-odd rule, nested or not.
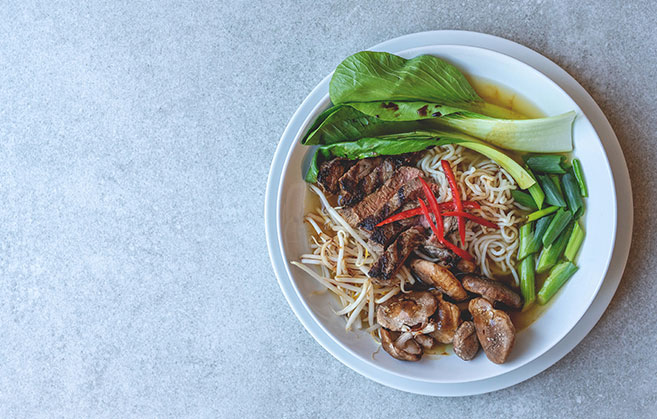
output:
[[[344,318],[335,316],[332,311],[337,308],[336,301],[328,293],[317,294],[316,291],[322,288],[312,278],[287,263],[286,276],[279,276],[279,281],[282,287],[283,281],[291,285],[302,302],[303,311],[296,310],[302,322],[319,326],[350,356],[357,358],[363,368],[380,369],[400,378],[427,383],[467,383],[509,373],[556,345],[584,315],[604,280],[616,233],[614,180],[604,148],[577,104],[542,73],[518,60],[490,50],[460,45],[424,46],[397,53],[407,58],[420,54],[444,58],[468,75],[511,88],[548,115],[569,110],[578,112],[573,131],[574,156],[582,161],[589,187],[587,211],[583,220],[587,235],[579,255],[580,270],[554,297],[555,301],[546,312],[518,334],[512,355],[503,365],[493,364],[483,353],[470,362],[453,355],[425,357],[417,363],[395,360],[383,351],[373,356],[377,350],[375,342],[363,332],[345,331]],[[277,237],[268,239],[275,240],[269,243],[270,249],[278,248],[287,261],[297,260],[299,255],[308,251],[308,239],[302,221],[307,190],[302,164],[307,159],[309,149],[300,145],[299,139],[315,117],[329,106],[328,78],[318,85],[315,92],[320,94],[309,97],[314,99],[314,103],[304,103],[304,114],[294,116],[297,120],[305,119],[301,129],[297,132],[286,131],[281,140],[282,144],[289,144],[288,137],[294,137],[278,185],[275,219]],[[321,93],[324,93],[323,97]]]

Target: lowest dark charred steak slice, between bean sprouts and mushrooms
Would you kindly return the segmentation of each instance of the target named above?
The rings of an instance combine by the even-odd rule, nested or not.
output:
[[[424,241],[424,228],[411,227],[401,233],[368,272],[372,280],[380,285],[391,285],[395,274],[410,254]]]

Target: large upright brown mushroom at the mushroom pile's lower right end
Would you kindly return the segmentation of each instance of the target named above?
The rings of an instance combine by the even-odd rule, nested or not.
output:
[[[493,308],[485,298],[475,298],[468,306],[474,319],[477,338],[488,359],[503,364],[516,340],[516,329],[509,315]]]

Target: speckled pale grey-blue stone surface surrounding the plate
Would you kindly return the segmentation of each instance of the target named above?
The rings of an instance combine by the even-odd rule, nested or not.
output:
[[[0,417],[654,417],[656,16],[653,1],[3,2]],[[579,80],[623,146],[637,227],[572,353],[458,399],[325,352],[263,228],[272,153],[312,87],[432,29],[509,38]]]

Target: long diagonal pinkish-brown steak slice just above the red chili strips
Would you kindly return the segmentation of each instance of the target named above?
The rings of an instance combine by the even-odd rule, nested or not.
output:
[[[422,171],[414,167],[400,167],[376,192],[366,196],[353,207],[343,208],[339,212],[349,225],[357,227],[365,218],[379,213],[402,185],[421,175]]]

